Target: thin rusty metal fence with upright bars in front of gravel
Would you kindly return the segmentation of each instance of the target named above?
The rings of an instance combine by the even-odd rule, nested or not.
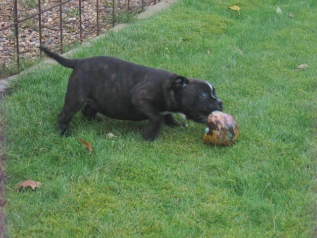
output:
[[[36,1],[36,0],[34,0]],[[78,21],[79,21],[79,27],[78,27],[78,31],[79,31],[79,36],[75,37],[74,40],[72,40],[71,42],[68,42],[67,44],[64,44],[63,42],[63,37],[64,34],[63,33],[63,6],[68,3],[68,2],[78,2]],[[87,1],[87,0],[86,0]],[[100,2],[101,0],[88,0],[88,1],[95,1],[96,2],[96,14],[95,15],[95,22],[96,24],[94,25],[90,25],[89,26],[89,32],[86,33],[84,32],[85,26],[83,26],[83,19],[82,19],[82,3],[85,2],[85,0],[56,0],[56,2],[58,2],[57,4],[54,4],[53,6],[50,6],[46,9],[42,9],[42,1],[38,0],[37,2],[37,12],[34,14],[31,14],[27,17],[24,17],[22,19],[19,18],[19,7],[18,7],[18,2],[17,0],[14,0],[14,6],[13,6],[13,16],[11,16],[13,18],[13,23],[6,25],[2,28],[0,28],[0,38],[5,38],[5,37],[1,37],[1,33],[4,32],[4,30],[7,29],[13,29],[13,33],[14,33],[14,59],[16,61],[16,66],[17,66],[17,71],[20,70],[20,58],[21,55],[25,54],[26,52],[20,52],[20,36],[19,36],[19,30],[20,30],[20,24],[25,23],[26,21],[33,19],[37,21],[37,28],[38,28],[38,36],[39,36],[39,45],[42,45],[43,43],[43,28],[47,27],[42,25],[42,21],[43,21],[43,17],[45,12],[49,12],[49,11],[53,11],[54,8],[58,8],[58,15],[59,15],[59,25],[58,28],[56,28],[55,30],[59,31],[59,47],[57,49],[54,49],[54,51],[60,51],[60,53],[63,53],[63,49],[65,48],[65,46],[69,46],[75,42],[82,42],[84,38],[87,38],[88,36],[92,35],[92,34],[96,34],[97,36],[100,34],[100,30],[102,28],[105,28],[107,26],[113,26],[115,24],[116,21],[116,16],[118,16],[118,11],[116,11],[116,5],[119,5],[119,0],[107,0],[108,4],[110,7],[107,8],[107,10],[109,11],[108,13],[108,18],[103,19],[101,21],[101,11],[105,10],[104,7],[100,6]],[[106,1],[106,0],[105,0]],[[130,1],[131,0],[121,0],[121,8],[122,6],[123,9],[120,9],[120,12],[135,12],[137,10],[143,10],[145,6],[150,5],[150,4],[156,4],[157,0],[139,0],[140,4],[135,3],[133,6],[130,5]],[[159,0],[158,0],[159,1]],[[135,1],[134,1],[135,2]],[[137,4],[137,7],[136,7]],[[124,9],[125,8],[125,9]],[[92,16],[90,16],[92,17]],[[77,20],[77,19],[76,19]],[[75,35],[78,34],[78,32],[74,33]],[[12,37],[13,38],[13,37]],[[24,44],[24,43],[22,43]],[[4,49],[5,51],[5,49]],[[41,57],[42,57],[42,53]]]

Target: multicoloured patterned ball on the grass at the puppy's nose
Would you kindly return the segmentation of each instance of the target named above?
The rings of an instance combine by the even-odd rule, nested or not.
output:
[[[208,116],[203,140],[214,145],[230,145],[238,139],[237,121],[229,114],[214,111]]]

